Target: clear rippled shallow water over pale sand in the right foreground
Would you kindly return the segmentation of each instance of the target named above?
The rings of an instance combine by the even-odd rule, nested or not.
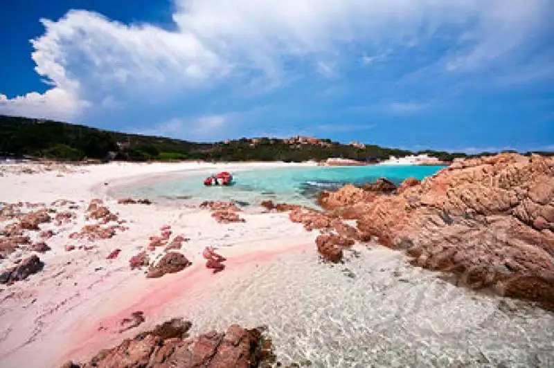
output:
[[[386,248],[350,257],[330,266],[310,250],[226,270],[172,313],[195,331],[267,325],[281,362],[312,367],[554,365],[553,313],[453,286]]]

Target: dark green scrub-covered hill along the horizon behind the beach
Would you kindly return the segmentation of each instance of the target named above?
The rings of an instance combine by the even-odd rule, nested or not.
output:
[[[466,157],[443,151],[423,151],[440,160]],[[197,143],[84,127],[51,120],[0,116],[0,156],[27,156],[57,160],[218,160],[305,161],[330,157],[383,160],[414,154],[377,145],[341,145],[327,139],[297,137],[241,138]]]

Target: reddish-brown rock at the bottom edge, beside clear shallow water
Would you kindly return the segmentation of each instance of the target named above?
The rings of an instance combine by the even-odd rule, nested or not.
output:
[[[124,340],[114,349],[100,351],[90,362],[67,362],[63,367],[249,368],[273,357],[271,340],[263,338],[260,329],[233,324],[225,333],[213,331],[188,338],[191,326],[176,318]]]

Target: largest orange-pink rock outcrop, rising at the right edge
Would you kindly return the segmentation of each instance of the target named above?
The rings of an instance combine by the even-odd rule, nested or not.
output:
[[[554,158],[458,161],[363,203],[356,218],[366,236],[406,250],[415,265],[554,308]]]

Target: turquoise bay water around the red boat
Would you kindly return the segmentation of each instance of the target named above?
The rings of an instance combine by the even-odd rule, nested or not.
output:
[[[335,190],[347,183],[361,185],[385,177],[395,183],[405,178],[431,176],[443,166],[373,165],[359,167],[287,167],[234,172],[235,185],[206,187],[206,174],[172,178],[161,183],[137,185],[118,195],[148,198],[189,199],[190,201],[238,201],[254,205],[265,199],[276,202],[313,205],[321,190]]]

